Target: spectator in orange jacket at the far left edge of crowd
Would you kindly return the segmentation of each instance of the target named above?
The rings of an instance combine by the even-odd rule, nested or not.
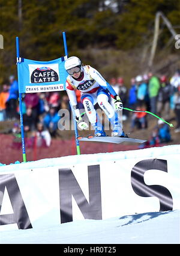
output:
[[[9,88],[7,84],[2,86],[2,92],[0,93],[0,121],[6,119],[6,102],[9,96]]]

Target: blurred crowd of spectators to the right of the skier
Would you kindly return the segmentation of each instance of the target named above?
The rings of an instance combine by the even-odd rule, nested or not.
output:
[[[152,72],[131,78],[130,88],[122,77],[112,78],[110,84],[121,97],[124,107],[137,111],[151,111],[167,122],[175,118],[175,133],[180,133],[180,70],[172,77]],[[172,114],[173,113],[173,114]],[[148,116],[148,117],[147,117]],[[122,120],[129,120],[130,132],[135,129],[147,129],[148,120],[154,118],[145,112],[123,111]],[[169,126],[159,120],[152,130],[148,143],[143,146],[159,145],[170,142]]]

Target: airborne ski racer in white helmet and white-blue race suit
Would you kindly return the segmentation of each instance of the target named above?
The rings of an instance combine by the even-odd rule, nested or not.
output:
[[[89,122],[91,122],[91,125],[95,130],[95,136],[106,136],[103,125],[94,108],[94,105],[98,103],[100,108],[106,113],[110,123],[112,123],[112,136],[128,137],[124,134],[124,131],[122,131],[122,125],[118,120],[118,113],[116,111],[121,111],[123,109],[122,101],[120,97],[116,95],[115,90],[113,90],[110,84],[104,80],[103,76],[89,65],[82,66],[80,59],[77,57],[67,58],[65,61],[65,70],[67,70],[69,74],[66,80],[66,90],[76,114],[77,126],[83,130],[88,128],[88,124],[84,122],[80,116],[74,89],[80,90],[81,101]],[[109,95],[113,99],[115,108],[108,102]]]

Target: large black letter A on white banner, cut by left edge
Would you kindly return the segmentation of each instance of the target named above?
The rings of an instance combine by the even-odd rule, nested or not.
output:
[[[0,225],[17,223],[19,229],[32,228],[25,203],[23,202],[14,174],[0,175],[0,213],[5,187],[7,187],[14,213],[0,215]]]

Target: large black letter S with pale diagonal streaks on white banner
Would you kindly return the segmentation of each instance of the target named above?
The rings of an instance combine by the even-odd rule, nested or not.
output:
[[[131,185],[139,196],[156,196],[160,200],[160,211],[173,209],[173,199],[166,187],[159,185],[148,186],[144,181],[146,170],[162,170],[167,172],[167,161],[162,159],[147,159],[135,164],[131,171]]]

